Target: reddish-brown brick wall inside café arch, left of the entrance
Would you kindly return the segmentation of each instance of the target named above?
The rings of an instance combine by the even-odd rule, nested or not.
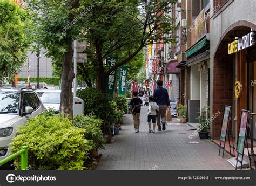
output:
[[[232,56],[214,59],[212,113],[221,114],[212,121],[213,139],[219,137],[224,106],[233,104],[233,65]]]

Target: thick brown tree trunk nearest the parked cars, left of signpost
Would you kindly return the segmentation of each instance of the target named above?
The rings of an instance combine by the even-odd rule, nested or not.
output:
[[[62,62],[62,92],[60,94],[60,112],[65,116],[73,119],[72,108],[72,82],[75,78],[73,72],[73,46],[72,40],[66,42],[68,44],[68,52],[64,53]]]

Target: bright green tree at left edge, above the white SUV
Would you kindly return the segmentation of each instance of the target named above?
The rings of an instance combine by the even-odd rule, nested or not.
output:
[[[10,0],[0,0],[0,81],[14,80],[30,45],[29,14]]]

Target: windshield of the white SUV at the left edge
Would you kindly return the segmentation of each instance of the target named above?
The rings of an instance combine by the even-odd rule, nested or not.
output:
[[[0,114],[18,113],[19,93],[0,91]]]

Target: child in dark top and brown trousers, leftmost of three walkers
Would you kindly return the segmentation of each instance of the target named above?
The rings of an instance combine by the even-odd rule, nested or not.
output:
[[[132,118],[135,132],[139,132],[139,125],[140,125],[140,107],[142,107],[142,100],[138,98],[138,91],[134,91],[132,93],[133,98],[131,99],[131,106],[132,106]]]

